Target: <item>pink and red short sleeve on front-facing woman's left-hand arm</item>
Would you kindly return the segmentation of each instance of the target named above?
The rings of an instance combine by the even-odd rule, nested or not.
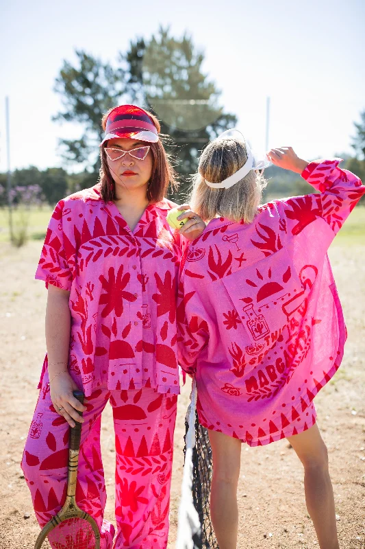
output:
[[[49,221],[45,243],[38,263],[35,278],[45,281],[46,288],[51,284],[62,290],[71,290],[75,247],[64,233],[64,215],[70,212],[60,200]]]

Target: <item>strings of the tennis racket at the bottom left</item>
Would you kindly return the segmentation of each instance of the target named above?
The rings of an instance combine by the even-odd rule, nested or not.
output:
[[[66,519],[49,532],[42,549],[95,549],[95,534],[84,519]]]

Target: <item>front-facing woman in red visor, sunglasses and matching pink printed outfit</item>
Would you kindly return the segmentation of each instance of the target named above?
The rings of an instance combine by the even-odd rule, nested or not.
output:
[[[103,521],[101,412],[110,401],[116,441],[115,547],[166,548],[179,371],[176,294],[182,237],[166,222],[173,170],[160,125],[123,105],[103,118],[101,181],[61,200],[36,278],[48,288],[47,355],[22,467],[40,526],[66,495],[68,424],[81,421],[76,500]],[[191,212],[190,212],[191,213]],[[186,217],[190,216],[186,214]],[[192,217],[192,213],[191,213]],[[186,237],[203,229],[186,222]],[[85,405],[73,397],[84,390]],[[76,410],[83,410],[80,419]]]

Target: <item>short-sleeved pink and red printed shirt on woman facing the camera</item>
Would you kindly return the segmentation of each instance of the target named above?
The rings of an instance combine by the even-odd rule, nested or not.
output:
[[[179,233],[173,202],[149,205],[130,231],[99,186],[60,200],[49,222],[36,279],[69,290],[68,368],[86,396],[110,389],[179,393],[176,298]],[[47,367],[47,357],[43,373]]]

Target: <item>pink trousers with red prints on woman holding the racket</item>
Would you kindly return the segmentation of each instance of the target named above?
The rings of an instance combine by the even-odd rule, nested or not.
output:
[[[45,379],[21,467],[34,511],[44,526],[66,498],[68,431],[55,412]],[[116,443],[114,548],[165,549],[168,539],[173,432],[177,395],[151,388],[98,389],[87,398],[81,431],[76,501],[97,521],[101,549],[113,546],[114,527],[103,520],[106,492],[101,463],[101,412],[110,400]]]

